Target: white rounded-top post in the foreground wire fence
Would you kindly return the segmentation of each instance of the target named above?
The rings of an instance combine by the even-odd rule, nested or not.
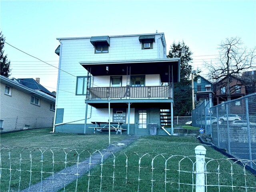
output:
[[[204,146],[196,146],[196,192],[204,192],[205,188],[205,154]]]

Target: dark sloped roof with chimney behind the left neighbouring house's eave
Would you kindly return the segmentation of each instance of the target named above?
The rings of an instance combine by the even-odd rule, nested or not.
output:
[[[49,90],[47,90],[44,86],[36,82],[33,78],[22,78],[22,79],[15,79],[18,83],[34,90],[40,90],[46,94],[49,94],[50,96],[54,96]]]

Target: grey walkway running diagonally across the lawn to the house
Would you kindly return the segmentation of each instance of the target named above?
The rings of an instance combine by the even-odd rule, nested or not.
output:
[[[60,172],[55,173],[53,176],[49,176],[41,182],[22,190],[22,192],[57,192],[71,182],[75,181],[77,178],[82,177],[83,174],[88,173],[91,168],[97,164],[100,164],[102,159],[103,161],[106,160],[110,155],[115,154],[123,147],[131,144],[137,138],[139,138],[139,136],[128,136],[128,138],[120,141],[118,145],[112,144],[106,149],[100,150],[100,152],[93,154],[91,156],[91,161],[90,158],[87,158],[79,164],[63,169]]]

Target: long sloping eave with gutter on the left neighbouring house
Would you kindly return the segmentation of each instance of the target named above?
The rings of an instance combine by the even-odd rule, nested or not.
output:
[[[6,84],[7,86],[10,86],[10,87],[16,88],[18,90],[21,90],[23,92],[26,92],[28,94],[37,96],[37,97],[42,98],[43,100],[46,100],[48,102],[55,103],[55,100],[56,100],[55,98],[51,98],[50,96],[47,96],[44,93],[41,93],[39,91],[30,89],[30,88],[28,88],[28,87],[26,87],[26,86],[24,86],[22,84],[19,84],[18,82],[10,80],[9,78],[6,78],[4,76],[0,76],[0,80],[1,80],[1,83]]]

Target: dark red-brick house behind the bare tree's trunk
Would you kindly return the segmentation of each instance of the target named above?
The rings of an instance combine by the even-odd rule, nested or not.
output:
[[[230,100],[234,100],[240,97],[243,97],[246,95],[246,89],[245,89],[245,84],[244,81],[234,77],[230,76],[229,77],[229,82],[230,82]],[[215,89],[215,102],[214,105],[221,104],[222,102],[228,101],[228,83],[227,83],[227,78],[223,78],[219,82],[214,84],[214,89]],[[240,106],[240,103],[237,102],[236,106]]]

